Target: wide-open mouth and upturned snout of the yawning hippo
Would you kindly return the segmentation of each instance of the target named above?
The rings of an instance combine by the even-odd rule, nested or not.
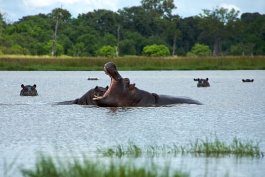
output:
[[[115,90],[113,89],[114,85],[116,85],[119,80],[123,79],[122,76],[117,71],[116,65],[114,63],[112,62],[106,63],[103,69],[105,73],[110,76],[110,79],[111,79],[110,86],[109,86],[109,89],[106,91],[106,93],[102,97],[94,95],[93,100],[100,100],[100,99],[107,97],[112,92],[112,90]]]

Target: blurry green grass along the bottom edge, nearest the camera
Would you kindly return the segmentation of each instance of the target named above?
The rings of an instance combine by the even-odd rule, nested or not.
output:
[[[151,169],[146,167],[136,167],[133,164],[117,164],[113,161],[109,165],[93,162],[84,157],[84,160],[74,159],[73,162],[67,163],[55,161],[50,156],[41,155],[35,164],[35,169],[21,169],[24,176],[68,176],[68,177],[87,177],[87,176],[106,176],[106,177],[123,177],[123,176],[169,176],[169,166],[165,166],[162,172],[155,164],[152,163]],[[188,173],[174,171],[170,176],[189,176]]]

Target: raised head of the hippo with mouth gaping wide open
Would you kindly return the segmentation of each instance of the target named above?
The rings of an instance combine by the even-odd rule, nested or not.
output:
[[[93,99],[95,105],[102,107],[120,107],[130,105],[131,99],[134,95],[135,83],[130,84],[129,78],[122,78],[116,69],[116,65],[108,62],[104,65],[104,71],[110,76],[111,82],[109,89],[102,97]]]

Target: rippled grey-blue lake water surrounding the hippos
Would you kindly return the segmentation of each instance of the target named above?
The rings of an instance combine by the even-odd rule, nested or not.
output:
[[[54,105],[80,98],[96,85],[110,84],[104,71],[0,71],[0,176],[4,163],[17,157],[8,176],[22,176],[21,165],[33,167],[36,153],[86,153],[132,141],[148,145],[185,146],[196,139],[217,138],[230,144],[260,141],[265,152],[265,71],[119,71],[151,93],[191,97],[203,105],[100,108]],[[87,80],[97,77],[99,80]],[[198,88],[193,78],[209,78]],[[254,79],[243,83],[242,79]],[[21,84],[36,84],[37,97],[19,96]],[[107,159],[107,158],[103,158]],[[145,163],[146,158],[130,159]],[[153,158],[170,162],[191,176],[264,176],[264,158],[177,155]]]

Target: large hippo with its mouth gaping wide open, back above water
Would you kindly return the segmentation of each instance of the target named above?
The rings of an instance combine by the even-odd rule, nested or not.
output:
[[[104,71],[110,76],[109,89],[102,97],[93,98],[95,105],[100,107],[138,107],[163,106],[177,103],[202,104],[188,97],[157,95],[138,89],[135,83],[130,84],[129,78],[123,78],[113,62],[104,65]]]

